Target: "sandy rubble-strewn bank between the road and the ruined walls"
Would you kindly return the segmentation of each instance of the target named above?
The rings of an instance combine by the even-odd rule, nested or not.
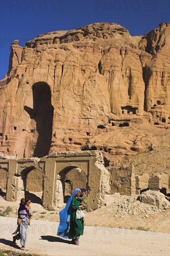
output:
[[[3,212],[7,206],[10,206],[12,211],[7,217],[17,218],[19,203],[19,201],[7,202],[0,197],[0,210]],[[60,209],[48,211],[37,203],[32,203],[32,209],[34,220],[59,222]],[[141,203],[137,200],[137,196],[131,197],[116,193],[108,195],[105,207],[86,214],[85,225],[95,226],[98,224],[107,227],[170,233],[170,210],[160,210],[152,205]]]

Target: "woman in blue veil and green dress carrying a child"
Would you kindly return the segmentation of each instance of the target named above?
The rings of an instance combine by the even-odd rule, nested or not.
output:
[[[59,212],[57,235],[63,238],[72,238],[72,243],[79,245],[79,236],[82,236],[84,231],[84,221],[83,218],[76,219],[76,211],[80,205],[80,201],[75,196],[81,196],[80,189],[74,190],[65,208]]]

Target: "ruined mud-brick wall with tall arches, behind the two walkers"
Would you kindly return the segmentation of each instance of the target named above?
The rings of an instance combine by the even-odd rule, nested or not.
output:
[[[6,200],[16,201],[29,192],[36,198],[42,191],[40,201],[49,209],[56,209],[76,188],[88,192],[88,211],[105,204],[109,193],[109,173],[104,167],[103,156],[98,151],[53,152],[43,158],[2,157],[1,177],[3,188],[7,188]],[[6,168],[6,170],[5,170]],[[4,176],[5,177],[5,176]]]

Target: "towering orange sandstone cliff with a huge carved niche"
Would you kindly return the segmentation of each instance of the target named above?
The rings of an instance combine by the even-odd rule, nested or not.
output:
[[[114,149],[114,139],[102,142],[98,136],[146,123],[167,128],[169,35],[169,23],[134,37],[115,23],[94,23],[39,35],[23,48],[15,40],[0,82],[1,152],[18,158],[86,149],[107,153],[111,144],[121,157],[122,141]],[[139,137],[129,144],[132,155],[151,144],[138,145]],[[113,164],[115,155],[105,163]]]

